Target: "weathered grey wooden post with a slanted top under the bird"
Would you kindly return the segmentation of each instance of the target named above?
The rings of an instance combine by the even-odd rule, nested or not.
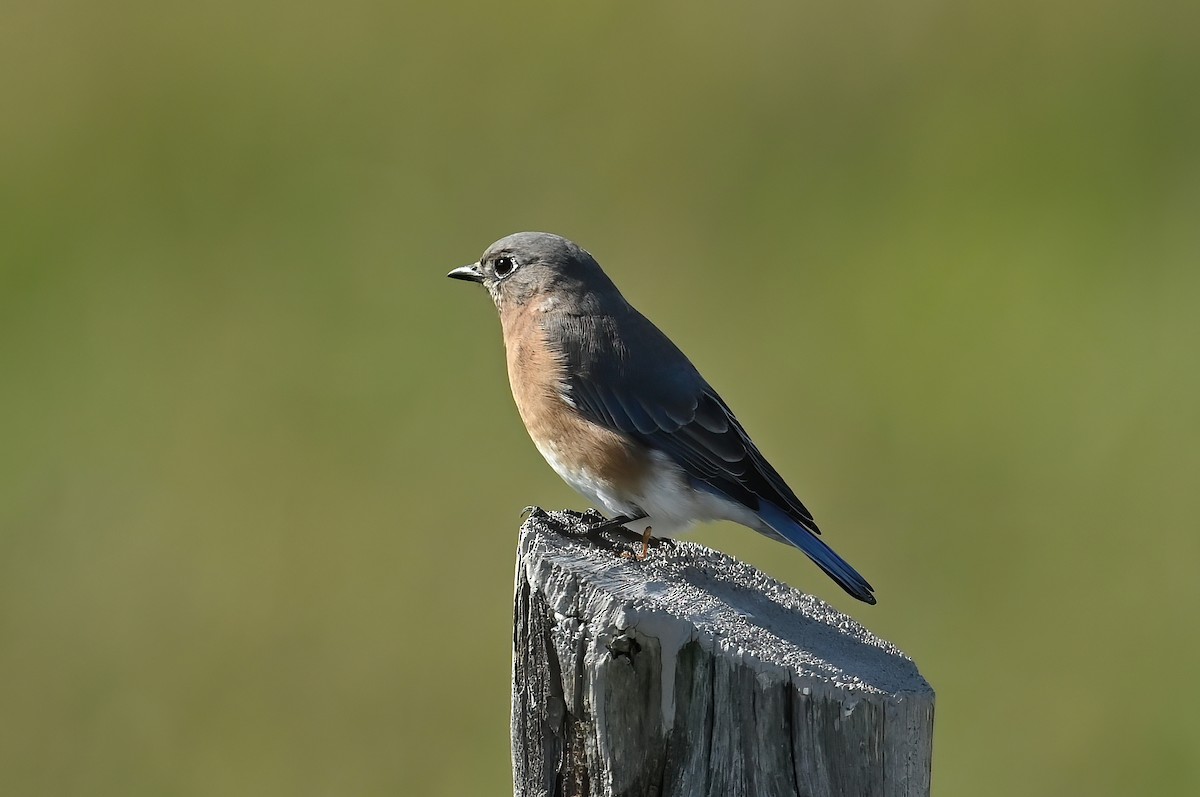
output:
[[[924,797],[934,690],[823,601],[692,543],[644,562],[521,532],[515,793]]]

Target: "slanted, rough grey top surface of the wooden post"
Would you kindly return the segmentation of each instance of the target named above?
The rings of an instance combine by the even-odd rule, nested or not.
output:
[[[719,645],[766,676],[932,697],[912,659],[818,598],[696,543],[676,540],[637,562],[556,531],[580,523],[577,513],[535,513],[521,528],[518,564],[565,617],[595,621],[607,612],[622,628],[680,646],[690,639]]]

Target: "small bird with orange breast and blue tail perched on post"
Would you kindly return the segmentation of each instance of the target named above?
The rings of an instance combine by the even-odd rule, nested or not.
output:
[[[636,558],[652,532],[732,521],[798,547],[847,593],[876,603],[725,400],[587,250],[515,233],[446,276],[487,289],[529,437],[566,484],[613,515],[606,526],[642,534]]]

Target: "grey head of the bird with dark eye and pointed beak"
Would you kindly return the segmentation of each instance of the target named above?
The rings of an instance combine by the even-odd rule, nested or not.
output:
[[[580,308],[613,296],[624,301],[587,250],[551,233],[514,233],[502,238],[487,247],[478,263],[457,268],[446,276],[481,283],[500,311],[551,295]]]

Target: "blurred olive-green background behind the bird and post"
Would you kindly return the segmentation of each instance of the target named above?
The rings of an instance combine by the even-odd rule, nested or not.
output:
[[[1189,4],[72,0],[0,23],[0,792],[510,789],[581,507],[444,274],[547,229],[878,589],[942,795],[1200,792]]]

